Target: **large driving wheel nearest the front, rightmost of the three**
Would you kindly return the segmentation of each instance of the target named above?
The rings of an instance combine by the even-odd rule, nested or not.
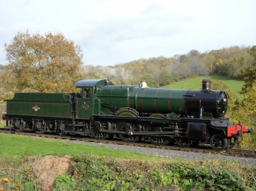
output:
[[[153,124],[151,127],[146,127],[146,132],[162,132],[163,129],[159,124]],[[167,145],[170,142],[169,136],[147,136],[147,139],[154,145]]]

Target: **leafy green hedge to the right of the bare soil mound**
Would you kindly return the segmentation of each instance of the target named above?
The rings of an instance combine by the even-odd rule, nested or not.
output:
[[[255,171],[221,160],[147,163],[75,156],[78,190],[253,190]],[[70,184],[70,182],[69,182]]]

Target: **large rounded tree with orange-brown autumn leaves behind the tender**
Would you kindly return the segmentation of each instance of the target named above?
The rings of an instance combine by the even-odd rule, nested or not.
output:
[[[1,81],[7,91],[71,92],[81,79],[82,50],[61,33],[18,32],[4,47],[8,64]]]

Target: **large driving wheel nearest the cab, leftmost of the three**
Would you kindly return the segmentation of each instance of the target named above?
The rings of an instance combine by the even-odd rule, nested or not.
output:
[[[90,126],[90,135],[94,139],[106,139],[109,133],[101,132],[101,130],[109,130],[109,123],[103,120],[94,120]]]

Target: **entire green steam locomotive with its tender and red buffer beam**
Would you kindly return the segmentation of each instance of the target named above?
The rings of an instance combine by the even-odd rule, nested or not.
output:
[[[150,88],[145,82],[115,86],[109,80],[75,85],[79,93],[15,93],[6,100],[2,118],[17,132],[116,136],[155,145],[175,141],[180,147],[206,142],[215,151],[234,147],[243,133],[252,134],[245,124],[224,117],[229,96],[212,90],[211,80],[203,80],[201,90]]]

